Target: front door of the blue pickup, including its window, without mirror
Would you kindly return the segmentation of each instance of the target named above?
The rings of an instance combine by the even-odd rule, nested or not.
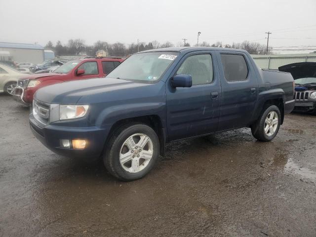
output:
[[[221,87],[216,58],[210,51],[192,52],[179,63],[172,76],[192,76],[192,87],[174,88],[166,82],[169,140],[208,134],[217,130]]]

